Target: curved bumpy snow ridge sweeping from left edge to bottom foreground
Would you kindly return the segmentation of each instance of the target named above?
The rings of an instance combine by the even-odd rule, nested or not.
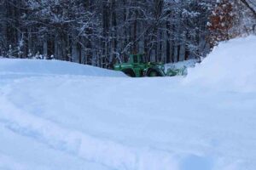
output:
[[[177,169],[177,161],[165,151],[143,150],[106,139],[96,139],[24,113],[3,97],[0,97],[0,103],[1,124],[15,133],[47,144],[54,150],[119,170]]]

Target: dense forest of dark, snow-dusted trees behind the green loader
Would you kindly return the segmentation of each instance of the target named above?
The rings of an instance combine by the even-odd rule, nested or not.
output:
[[[129,54],[173,63],[255,33],[254,0],[1,0],[0,55],[110,68]]]

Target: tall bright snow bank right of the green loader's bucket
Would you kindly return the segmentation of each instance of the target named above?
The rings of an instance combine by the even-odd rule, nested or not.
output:
[[[256,37],[221,42],[195,69],[186,84],[236,92],[256,92]]]

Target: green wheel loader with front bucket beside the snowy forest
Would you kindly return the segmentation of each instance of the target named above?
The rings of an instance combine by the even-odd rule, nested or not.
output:
[[[127,63],[113,65],[113,70],[123,71],[129,77],[173,77],[183,75],[184,69],[168,69],[162,63],[146,62],[143,54],[131,54]]]

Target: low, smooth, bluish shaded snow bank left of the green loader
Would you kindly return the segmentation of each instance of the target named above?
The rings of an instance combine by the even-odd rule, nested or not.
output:
[[[119,71],[110,71],[61,60],[39,59],[0,59],[0,73],[125,77],[125,74]]]

